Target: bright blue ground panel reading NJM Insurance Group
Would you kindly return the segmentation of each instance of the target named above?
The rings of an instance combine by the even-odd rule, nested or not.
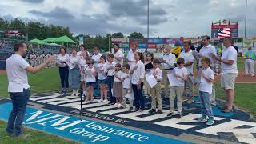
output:
[[[0,105],[0,118],[7,120],[12,105]],[[188,143],[121,126],[79,119],[28,107],[24,124],[31,128],[86,143]]]

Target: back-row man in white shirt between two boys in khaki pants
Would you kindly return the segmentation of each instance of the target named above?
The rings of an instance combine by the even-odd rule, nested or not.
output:
[[[174,64],[176,63],[175,55],[170,53],[170,46],[165,46],[166,54],[162,56],[163,62],[161,64],[162,68],[162,80],[165,86],[165,98],[170,97],[170,82],[167,77],[167,73],[169,70],[174,68]]]

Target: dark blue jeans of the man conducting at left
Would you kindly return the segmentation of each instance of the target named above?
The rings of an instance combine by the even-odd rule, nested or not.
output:
[[[10,93],[10,98],[13,103],[13,110],[10,112],[6,132],[17,136],[22,133],[22,123],[26,114],[26,104],[30,99],[30,90],[23,89],[23,92]]]

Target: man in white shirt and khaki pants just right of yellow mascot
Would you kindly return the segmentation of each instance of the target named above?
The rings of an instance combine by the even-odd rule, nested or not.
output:
[[[193,99],[193,92],[192,92],[192,86],[193,82],[191,80],[191,77],[193,77],[193,66],[194,66],[194,56],[192,54],[192,50],[190,49],[191,47],[191,42],[186,41],[184,42],[184,51],[179,55],[180,58],[184,58],[185,64],[184,67],[186,67],[188,78],[187,81],[185,82],[185,98],[188,99],[188,103],[194,102]],[[184,98],[183,98],[184,99]]]

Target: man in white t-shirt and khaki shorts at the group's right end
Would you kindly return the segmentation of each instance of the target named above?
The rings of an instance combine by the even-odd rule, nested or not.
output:
[[[228,113],[233,109],[234,103],[234,83],[238,76],[237,67],[237,51],[232,46],[233,38],[226,37],[223,41],[223,46],[226,50],[223,51],[222,57],[214,56],[216,60],[221,62],[221,87],[225,90],[226,106],[223,106],[222,112]]]

